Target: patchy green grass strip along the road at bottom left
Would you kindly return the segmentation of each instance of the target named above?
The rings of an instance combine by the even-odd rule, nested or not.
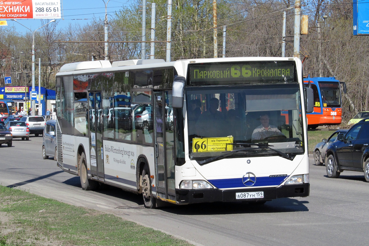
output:
[[[0,246],[190,245],[112,214],[0,186]]]

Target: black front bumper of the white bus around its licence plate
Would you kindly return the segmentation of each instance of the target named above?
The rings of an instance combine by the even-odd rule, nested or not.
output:
[[[263,191],[264,197],[257,199],[236,199],[237,192],[256,192]],[[251,188],[239,190],[183,190],[176,189],[177,204],[190,204],[199,202],[231,202],[231,201],[263,201],[273,200],[284,197],[307,197],[310,194],[310,183],[307,184],[288,184],[280,187],[270,188]]]

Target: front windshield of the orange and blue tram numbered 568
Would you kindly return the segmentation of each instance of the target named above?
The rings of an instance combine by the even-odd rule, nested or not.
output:
[[[340,108],[341,98],[339,84],[332,82],[319,82],[323,107]]]

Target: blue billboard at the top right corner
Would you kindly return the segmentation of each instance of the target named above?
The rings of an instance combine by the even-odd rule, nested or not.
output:
[[[369,35],[369,2],[353,0],[354,35]]]

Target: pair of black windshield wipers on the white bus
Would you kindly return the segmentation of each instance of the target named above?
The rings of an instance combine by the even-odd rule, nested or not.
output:
[[[224,159],[228,156],[234,155],[237,152],[249,152],[249,151],[258,152],[258,151],[255,151],[255,150],[262,150],[262,149],[273,150],[274,152],[279,154],[280,157],[286,158],[288,160],[293,160],[294,159],[294,157],[290,156],[289,154],[286,154],[286,153],[280,152],[279,150],[270,148],[270,146],[273,147],[273,145],[268,145],[268,143],[227,143],[227,145],[250,145],[250,146],[253,145],[253,146],[258,146],[258,148],[244,148],[244,149],[231,150],[229,152],[224,153],[223,155],[214,156],[214,157],[211,157],[211,158],[208,158],[208,159],[205,159],[205,160],[201,160],[199,162],[199,164],[203,165],[203,164],[207,164],[209,162],[213,162],[215,160]]]

